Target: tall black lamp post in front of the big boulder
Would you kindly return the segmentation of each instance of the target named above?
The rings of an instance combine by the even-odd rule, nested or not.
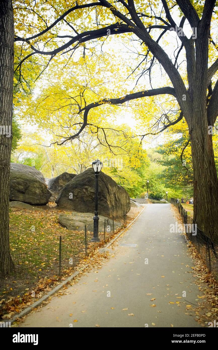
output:
[[[91,239],[92,242],[99,242],[100,239],[98,237],[98,221],[99,221],[99,216],[98,216],[98,176],[103,168],[103,163],[97,159],[92,163],[92,168],[94,170],[94,176],[96,179],[96,189],[95,189],[95,210],[94,210],[94,217],[93,217],[93,238]]]

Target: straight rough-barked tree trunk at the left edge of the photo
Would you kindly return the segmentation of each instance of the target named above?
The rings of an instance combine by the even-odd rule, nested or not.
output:
[[[0,3],[0,275],[13,269],[9,250],[9,176],[12,142],[14,20],[12,0]],[[7,131],[7,135],[6,135]],[[11,135],[10,135],[11,132]],[[10,135],[10,137],[9,137]]]

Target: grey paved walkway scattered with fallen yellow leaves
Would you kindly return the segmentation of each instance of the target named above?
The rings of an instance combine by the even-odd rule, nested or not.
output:
[[[148,204],[98,273],[83,276],[20,327],[199,327],[192,304],[201,292],[184,237],[169,232],[172,223],[170,204]]]

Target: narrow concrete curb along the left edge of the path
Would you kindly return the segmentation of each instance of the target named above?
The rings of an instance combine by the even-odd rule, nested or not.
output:
[[[146,208],[146,207],[145,207]],[[136,218],[126,226],[125,230],[129,228],[129,226],[131,226],[134,221],[136,219],[138,219],[138,217],[142,214],[142,212],[145,210],[145,208],[142,209],[142,211],[136,216]],[[110,247],[110,245],[112,245],[112,243],[122,234],[124,233],[125,230],[122,230],[114,239],[112,239],[112,241],[110,241],[105,248],[100,248],[100,249],[107,249],[108,247]],[[35,301],[33,304],[31,304],[29,307],[25,308],[23,311],[21,311],[19,314],[17,314],[16,316],[14,316],[14,318],[12,318],[11,320],[6,319],[2,320],[2,321],[7,321],[10,322],[10,324],[13,324],[17,318],[21,318],[23,316],[26,316],[27,314],[29,314],[31,312],[31,310],[33,310],[34,308],[40,306],[43,301],[47,300],[51,295],[55,294],[56,292],[58,292],[58,290],[60,290],[63,286],[65,286],[69,281],[73,280],[80,272],[82,272],[86,267],[88,267],[89,265],[85,265],[82,269],[75,271],[71,276],[69,276],[65,281],[63,281],[61,284],[59,284],[58,286],[56,286],[54,289],[50,290],[50,292],[48,292],[48,294],[43,295],[39,300]]]

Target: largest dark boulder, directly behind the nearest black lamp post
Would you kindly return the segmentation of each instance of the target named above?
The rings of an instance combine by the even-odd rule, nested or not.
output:
[[[55,201],[60,208],[94,213],[95,176],[92,168],[75,176],[62,189]],[[130,210],[126,190],[110,176],[99,173],[98,212],[106,217],[121,217]]]

